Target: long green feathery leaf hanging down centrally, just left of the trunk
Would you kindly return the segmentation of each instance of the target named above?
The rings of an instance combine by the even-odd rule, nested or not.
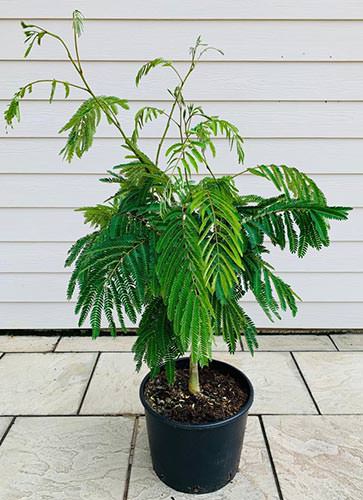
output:
[[[182,207],[169,211],[157,245],[156,272],[168,317],[183,351],[191,349],[194,362],[207,364],[211,356],[213,308],[199,246],[197,219]]]

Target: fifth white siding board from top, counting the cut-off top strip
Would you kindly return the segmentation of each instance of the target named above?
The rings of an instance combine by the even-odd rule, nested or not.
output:
[[[0,173],[98,173],[121,162],[119,139],[95,140],[92,151],[71,165],[58,154],[64,138],[0,139]],[[152,158],[156,139],[144,139],[140,145]],[[166,146],[170,141],[166,141]],[[219,174],[240,170],[224,139],[216,141],[217,157],[210,163]],[[359,174],[363,172],[363,139],[246,139],[245,166],[286,164],[310,174]]]

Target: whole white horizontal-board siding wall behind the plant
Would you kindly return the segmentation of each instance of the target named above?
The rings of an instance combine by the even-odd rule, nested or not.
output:
[[[136,89],[133,78],[148,58],[164,56],[185,65],[198,34],[221,47],[210,53],[190,81],[187,97],[211,113],[235,121],[246,137],[246,164],[286,163],[304,169],[331,203],[355,207],[348,223],[332,228],[332,246],[304,260],[274,250],[282,276],[304,299],[292,328],[363,327],[363,2],[361,0],[0,0],[0,107],[22,82],[71,78],[64,54],[43,41],[22,60],[20,16],[70,34],[69,16],[79,8],[90,20],[81,40],[85,67],[98,92],[117,94],[137,108],[167,106],[172,75],[156,70]],[[72,328],[73,304],[64,298],[63,260],[85,228],[73,208],[109,193],[97,176],[120,160],[112,129],[100,127],[81,162],[62,163],[57,130],[78,106],[61,93],[47,103],[48,89],[23,105],[22,123],[0,130],[0,328]],[[129,125],[130,114],[125,115]],[[152,151],[160,125],[145,130]],[[218,173],[236,171],[221,142]],[[252,176],[241,190],[269,186]],[[252,299],[246,307],[258,326],[274,326]]]

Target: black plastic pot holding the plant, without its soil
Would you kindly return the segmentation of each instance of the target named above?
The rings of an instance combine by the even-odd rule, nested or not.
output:
[[[177,361],[178,368],[188,364],[188,358]],[[145,400],[150,375],[140,386],[154,470],[165,484],[185,493],[210,493],[234,478],[253,402],[253,387],[246,375],[222,361],[213,360],[210,366],[233,376],[248,395],[240,411],[226,420],[206,424],[172,421],[156,413]]]

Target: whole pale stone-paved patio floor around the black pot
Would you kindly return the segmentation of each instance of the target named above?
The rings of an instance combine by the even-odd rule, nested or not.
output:
[[[363,498],[363,335],[217,341],[256,398],[236,478],[198,497],[153,473],[132,342],[0,336],[1,500]]]

